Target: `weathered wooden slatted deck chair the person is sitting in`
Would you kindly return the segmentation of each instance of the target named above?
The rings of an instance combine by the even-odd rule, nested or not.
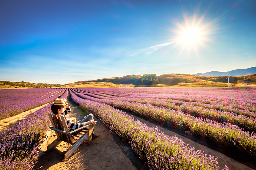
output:
[[[75,150],[80,146],[84,140],[88,140],[88,145],[92,143],[93,127],[94,124],[88,124],[75,130],[68,130],[67,122],[63,116],[55,115],[52,113],[48,114],[52,126],[51,130],[54,130],[57,139],[47,146],[47,151],[55,148],[61,141],[72,144],[68,151],[64,154],[64,158],[69,158]],[[71,118],[71,121],[75,122],[75,118]],[[74,135],[75,132],[82,130],[80,133]]]

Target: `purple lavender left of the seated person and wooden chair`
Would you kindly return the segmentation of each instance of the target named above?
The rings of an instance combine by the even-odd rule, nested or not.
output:
[[[54,101],[58,97],[67,98],[68,91],[67,89],[10,89],[0,90],[0,92],[1,103],[9,103],[6,114],[4,109],[0,114],[3,115],[2,117],[10,117],[12,107],[28,110],[27,106],[34,108]],[[22,122],[16,124],[16,127],[1,132],[0,169],[32,169],[34,167],[40,153],[40,141],[51,125],[47,116],[51,112],[51,104],[28,115]],[[19,112],[12,113],[12,115],[16,114]]]

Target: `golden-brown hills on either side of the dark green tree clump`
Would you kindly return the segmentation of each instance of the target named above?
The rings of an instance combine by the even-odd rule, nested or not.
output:
[[[138,87],[138,82],[143,76],[127,75],[123,77],[104,78],[90,81],[78,81],[75,83],[66,84],[65,86],[75,84],[88,83],[113,83],[122,85],[131,85]],[[226,76],[198,76],[190,74],[163,74],[157,76],[159,83],[156,86],[228,86],[228,79]],[[230,76],[229,83],[232,86],[248,86],[256,85],[256,74],[244,76]],[[143,85],[142,85],[143,86]],[[144,85],[145,86],[145,85]],[[155,85],[154,85],[155,86]]]

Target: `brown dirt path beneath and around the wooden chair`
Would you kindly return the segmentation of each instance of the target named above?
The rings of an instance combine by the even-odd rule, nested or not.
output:
[[[69,117],[80,120],[88,114],[87,110],[77,106],[70,97],[67,101],[72,109]],[[137,169],[100,123],[96,123],[94,127],[95,134],[100,137],[94,139],[90,146],[82,143],[70,158],[63,160],[65,151],[71,145],[61,142],[55,149],[43,153],[38,169]],[[56,139],[54,135],[55,133],[50,131],[48,144]]]

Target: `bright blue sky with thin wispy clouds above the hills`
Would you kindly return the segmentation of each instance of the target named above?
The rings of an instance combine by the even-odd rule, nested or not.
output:
[[[66,84],[255,67],[255,21],[254,0],[1,0],[0,80]]]

